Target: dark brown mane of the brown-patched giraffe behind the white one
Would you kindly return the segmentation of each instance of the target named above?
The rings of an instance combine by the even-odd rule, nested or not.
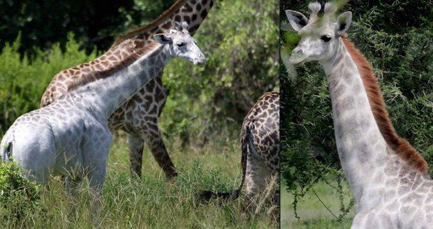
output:
[[[129,31],[128,33],[124,35],[117,36],[115,43],[113,46],[118,45],[119,43],[122,43],[122,41],[131,38],[131,36],[139,35],[142,33],[145,33],[146,31],[150,31],[154,29],[154,27],[157,27],[161,22],[164,20],[167,20],[173,13],[175,13],[177,10],[182,8],[186,3],[186,0],[177,0],[175,3],[173,3],[168,10],[166,10],[163,14],[161,14],[159,17],[157,17],[155,20],[150,22],[149,24],[146,24],[144,27],[140,27],[138,29],[133,29],[132,31]]]

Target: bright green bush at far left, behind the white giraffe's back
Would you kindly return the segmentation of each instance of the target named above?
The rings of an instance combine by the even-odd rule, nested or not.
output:
[[[55,44],[50,50],[38,50],[31,61],[20,57],[20,36],[12,45],[3,47],[0,53],[0,135],[21,114],[39,108],[45,87],[56,73],[96,57],[95,52],[87,55],[79,47],[70,34],[64,52]]]

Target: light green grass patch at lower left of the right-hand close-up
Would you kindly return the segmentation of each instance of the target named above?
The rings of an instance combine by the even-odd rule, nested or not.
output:
[[[330,179],[331,183],[336,183]],[[339,194],[330,185],[325,182],[318,182],[312,189],[317,196],[309,191],[298,202],[298,216],[295,218],[293,210],[293,195],[286,191],[285,182],[281,182],[281,228],[309,228],[309,229],[325,229],[325,228],[350,228],[351,221],[354,215],[354,209],[344,217],[343,221],[337,221],[335,216],[340,214]],[[323,203],[330,209],[331,212],[323,206]],[[346,184],[344,184],[344,204],[345,206],[351,200],[351,193]]]

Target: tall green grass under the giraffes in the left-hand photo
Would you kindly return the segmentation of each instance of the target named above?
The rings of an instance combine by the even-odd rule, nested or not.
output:
[[[240,145],[237,135],[213,138],[205,146],[182,148],[168,143],[179,176],[168,182],[145,149],[142,178],[129,172],[126,139],[119,137],[111,149],[103,189],[102,228],[277,228],[263,211],[251,222],[241,216],[244,195],[239,200],[200,203],[198,191],[235,189],[240,182]],[[1,221],[1,228],[89,228],[91,205],[86,185],[76,197],[68,196],[52,179],[42,194],[41,210],[20,221]],[[1,218],[1,217],[0,217]]]

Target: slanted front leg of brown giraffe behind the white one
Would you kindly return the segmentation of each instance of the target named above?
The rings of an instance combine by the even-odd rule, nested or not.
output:
[[[156,162],[166,174],[167,179],[176,177],[177,171],[175,165],[173,165],[170,156],[168,156],[166,145],[163,142],[163,138],[161,135],[161,131],[159,131],[159,128],[156,130],[156,132],[148,130],[144,134],[144,139],[150,151],[152,152],[152,155],[154,156]]]

